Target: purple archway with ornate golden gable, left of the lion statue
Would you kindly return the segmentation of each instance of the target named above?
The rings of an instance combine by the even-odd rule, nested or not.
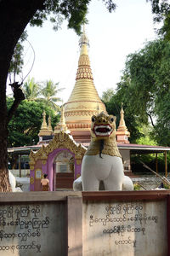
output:
[[[74,164],[73,175],[70,175],[74,180],[81,175],[82,157],[86,152],[86,149],[81,144],[77,144],[71,136],[64,132],[60,132],[54,136],[54,139],[48,144],[48,146],[42,145],[37,153],[31,151],[30,154],[30,190],[41,190],[41,178],[43,174],[48,174],[50,190],[57,189],[56,183],[56,158],[59,155],[65,154],[71,159],[70,164]],[[64,168],[64,167],[63,167]],[[62,176],[62,175],[61,175]],[[65,176],[65,175],[64,175]],[[69,176],[69,175],[68,175]],[[70,178],[70,183],[71,183]],[[64,181],[62,181],[64,182]],[[71,189],[71,188],[65,188]]]

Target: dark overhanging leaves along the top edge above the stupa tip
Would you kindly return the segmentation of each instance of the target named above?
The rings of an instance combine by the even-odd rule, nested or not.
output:
[[[88,4],[91,0],[46,0],[43,1],[42,8],[37,9],[36,14],[31,19],[31,26],[42,26],[44,20],[50,17],[54,23],[54,29],[58,29],[63,20],[68,20],[68,27],[74,28],[77,33],[81,32],[82,22],[87,22],[85,16],[88,13]],[[116,4],[112,0],[102,0],[106,8],[111,12],[116,9]]]

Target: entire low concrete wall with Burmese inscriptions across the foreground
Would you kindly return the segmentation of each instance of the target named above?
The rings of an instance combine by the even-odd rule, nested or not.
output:
[[[0,193],[2,256],[170,256],[170,191]]]

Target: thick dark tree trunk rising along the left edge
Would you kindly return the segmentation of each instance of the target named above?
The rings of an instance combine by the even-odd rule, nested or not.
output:
[[[14,47],[26,25],[45,0],[0,1],[0,192],[11,191],[8,181],[8,113],[6,82]],[[10,116],[11,118],[12,116]]]

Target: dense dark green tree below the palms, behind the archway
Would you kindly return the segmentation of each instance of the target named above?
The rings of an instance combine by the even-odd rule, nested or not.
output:
[[[12,98],[7,98],[7,106],[13,103]],[[43,110],[51,116],[52,127],[59,121],[51,108],[45,107],[41,102],[23,101],[17,108],[13,119],[8,124],[8,148],[31,145],[38,142],[38,132],[42,125]]]

